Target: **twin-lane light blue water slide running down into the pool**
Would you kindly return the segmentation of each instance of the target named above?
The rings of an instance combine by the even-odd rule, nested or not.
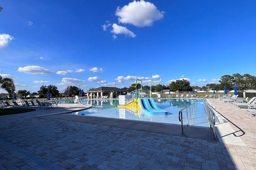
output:
[[[158,107],[158,110],[157,109],[154,109],[149,101],[148,101],[148,98],[144,97],[144,99],[140,99],[138,98],[138,106],[141,108],[141,110],[146,113],[147,115],[166,115],[167,114],[167,111],[164,111],[162,109],[159,109]]]

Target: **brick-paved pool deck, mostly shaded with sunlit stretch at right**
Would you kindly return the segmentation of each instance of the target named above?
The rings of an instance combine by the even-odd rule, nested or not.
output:
[[[90,105],[0,116],[0,169],[255,170],[255,114],[207,100],[217,139],[212,129],[60,114]]]

